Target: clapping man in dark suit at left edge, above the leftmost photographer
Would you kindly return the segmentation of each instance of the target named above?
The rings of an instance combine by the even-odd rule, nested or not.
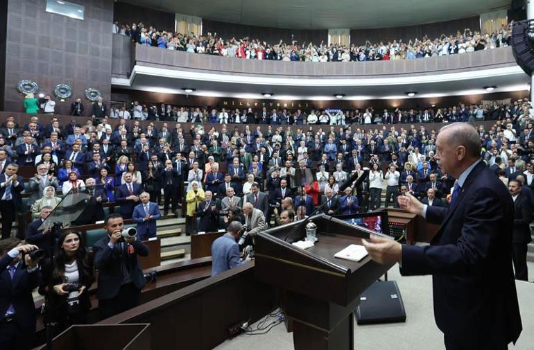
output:
[[[9,164],[6,171],[0,175],[0,214],[2,216],[2,239],[11,236],[11,227],[15,220],[15,213],[22,204],[20,193],[24,191],[24,180],[17,176],[19,166]]]

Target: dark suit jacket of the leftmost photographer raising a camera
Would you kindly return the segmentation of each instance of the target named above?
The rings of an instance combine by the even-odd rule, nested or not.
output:
[[[15,276],[11,279],[8,265],[13,261],[8,254],[0,258],[0,315],[6,315],[10,304],[15,308],[15,317],[19,326],[35,331],[35,304],[32,290],[39,286],[41,272],[39,269],[28,273],[23,261],[19,262]]]

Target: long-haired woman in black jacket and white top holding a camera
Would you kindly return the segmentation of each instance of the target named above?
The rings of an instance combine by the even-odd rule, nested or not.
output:
[[[78,233],[62,233],[55,245],[54,259],[42,264],[40,295],[46,299],[46,320],[55,322],[56,335],[71,324],[85,324],[91,308],[89,292],[93,265]]]

